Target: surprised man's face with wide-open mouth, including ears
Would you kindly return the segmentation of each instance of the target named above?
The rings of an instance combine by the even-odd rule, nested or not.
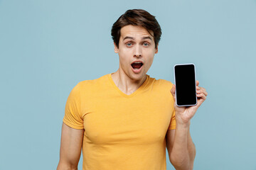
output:
[[[152,35],[139,26],[121,28],[119,48],[114,45],[114,52],[119,55],[119,71],[132,80],[137,81],[146,76],[158,52]]]

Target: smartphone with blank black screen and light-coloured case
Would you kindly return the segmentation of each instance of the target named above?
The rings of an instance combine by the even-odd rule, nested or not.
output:
[[[174,65],[177,106],[196,106],[196,66],[190,64]]]

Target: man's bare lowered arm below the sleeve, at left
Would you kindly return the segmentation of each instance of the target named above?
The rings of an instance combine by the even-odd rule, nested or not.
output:
[[[60,141],[60,161],[57,170],[78,169],[84,130],[70,128],[63,123]]]

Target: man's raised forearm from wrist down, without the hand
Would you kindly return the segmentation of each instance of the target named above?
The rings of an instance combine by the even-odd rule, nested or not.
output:
[[[174,167],[179,169],[193,169],[193,160],[196,157],[196,147],[193,144],[190,132],[190,123],[176,124],[174,145],[171,150],[170,160]]]

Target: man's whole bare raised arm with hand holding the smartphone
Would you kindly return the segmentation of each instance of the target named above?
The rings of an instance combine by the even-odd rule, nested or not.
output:
[[[177,170],[193,169],[193,161],[196,157],[196,147],[189,132],[190,120],[208,95],[206,89],[198,85],[199,81],[196,81],[198,104],[190,107],[176,106],[175,85],[171,89],[171,94],[174,97],[176,130],[168,130],[166,133],[166,147],[169,152],[170,162]]]

